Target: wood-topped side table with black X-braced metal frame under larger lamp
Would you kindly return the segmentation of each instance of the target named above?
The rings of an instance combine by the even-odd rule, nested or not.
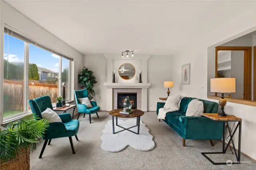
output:
[[[234,152],[236,154],[236,160],[237,162],[232,162],[232,164],[240,164],[240,158],[241,158],[241,130],[242,130],[242,119],[239,117],[235,117],[233,115],[228,115],[226,117],[223,116],[219,116],[218,113],[202,113],[201,114],[204,117],[208,117],[209,119],[212,119],[214,121],[223,121],[223,139],[222,139],[222,152],[201,152],[201,154],[208,159],[210,162],[212,162],[212,164],[214,165],[226,165],[227,162],[220,162],[220,163],[216,163],[213,162],[210,158],[208,158],[208,156],[206,156],[206,154],[225,154],[226,150],[228,149],[228,146],[230,145],[230,142],[232,142],[233,148],[234,148]],[[228,125],[228,122],[238,122],[238,124],[236,125],[236,128],[232,134],[232,131]],[[230,134],[230,140],[228,141],[228,144],[225,148],[225,127],[226,125],[228,127],[228,132]],[[239,127],[239,134],[238,134],[238,153],[236,153],[236,148],[235,148],[235,144],[234,144],[234,140],[233,140],[233,136],[236,133],[237,128]]]

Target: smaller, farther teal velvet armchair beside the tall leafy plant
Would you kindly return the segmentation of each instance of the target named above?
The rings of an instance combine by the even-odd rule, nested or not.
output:
[[[97,112],[100,110],[100,107],[97,106],[96,101],[90,101],[91,104],[92,104],[92,107],[91,108],[87,108],[86,105],[81,104],[79,102],[79,100],[78,100],[80,98],[88,97],[87,89],[75,90],[74,91],[74,95],[75,95],[75,98],[76,98],[76,105],[77,105],[77,110],[78,110],[78,113],[79,113],[78,117],[77,117],[77,120],[79,119],[80,113],[84,113],[84,116],[85,116],[85,114],[88,114],[89,115],[89,119],[90,119],[90,123],[92,123],[91,122],[91,114],[96,113],[97,117],[99,118]]]

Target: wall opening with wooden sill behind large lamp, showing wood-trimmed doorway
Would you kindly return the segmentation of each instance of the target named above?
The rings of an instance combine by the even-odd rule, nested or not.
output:
[[[256,106],[256,32],[230,42],[208,47],[208,90],[210,99],[221,93],[210,91],[210,78],[236,78],[236,92],[224,93],[226,101]]]

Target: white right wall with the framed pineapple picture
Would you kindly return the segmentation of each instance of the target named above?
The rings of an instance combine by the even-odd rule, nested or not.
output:
[[[216,47],[255,31],[255,15],[255,10],[250,11],[240,16],[240,18],[236,18],[236,20],[221,26],[219,30],[211,32],[208,36],[195,40],[194,44],[191,44],[188,48],[184,48],[184,51],[181,53],[174,55],[172,65],[172,79],[174,80],[173,93],[218,102],[218,100],[207,98],[207,76],[208,78],[214,78],[214,73],[212,75],[212,71],[209,71],[213,70],[214,72],[214,64],[209,65],[207,69],[207,63],[214,63],[215,61],[215,49],[209,46],[214,44],[213,46]],[[181,85],[180,69],[184,63],[190,63],[190,85]],[[225,111],[227,114],[242,118],[241,151],[256,159],[256,136],[254,135],[256,134],[256,107],[228,102]],[[238,133],[236,133],[234,138],[237,148]]]

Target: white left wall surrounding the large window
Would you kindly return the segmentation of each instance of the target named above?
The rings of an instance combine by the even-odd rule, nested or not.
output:
[[[74,62],[71,65],[71,98],[74,98],[73,90],[80,89],[78,85],[78,74],[80,73],[83,66],[83,55],[72,48],[70,45],[64,43],[62,40],[52,35],[50,32],[40,27],[38,24],[12,8],[4,1],[0,1],[0,51],[3,51],[3,34],[4,34],[4,24],[8,24],[9,26],[15,28],[22,34],[33,38],[39,43],[42,43],[46,46],[52,47],[54,50],[59,51],[67,56],[74,58]],[[68,34],[68,33],[67,33]],[[3,72],[3,52],[0,53],[0,62],[1,62],[1,73]],[[74,69],[73,69],[74,68]],[[1,75],[0,81],[3,81],[3,77]],[[3,93],[1,88],[1,94]],[[1,105],[3,102],[0,102]],[[3,107],[1,107],[3,108]],[[1,111],[2,112],[2,111]],[[2,119],[0,119],[2,120]]]

